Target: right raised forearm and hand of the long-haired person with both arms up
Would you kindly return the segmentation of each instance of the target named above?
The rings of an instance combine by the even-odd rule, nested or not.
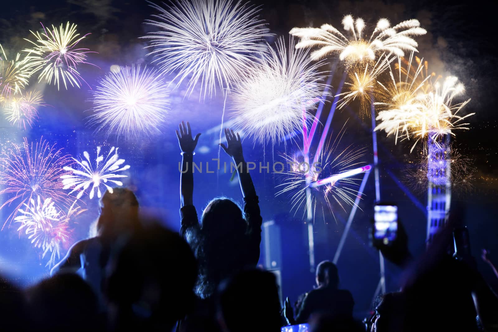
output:
[[[239,133],[237,135],[233,130],[225,129],[225,137],[227,138],[227,145],[220,144],[223,150],[234,159],[239,174],[239,182],[241,184],[242,195],[246,197],[256,197],[256,190],[247,168],[247,163],[244,160],[242,153],[242,141]],[[239,165],[241,165],[239,167]]]

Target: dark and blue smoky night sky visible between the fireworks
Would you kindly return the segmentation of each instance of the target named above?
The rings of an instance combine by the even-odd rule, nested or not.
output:
[[[491,258],[498,264],[498,224],[496,216],[498,208],[498,154],[497,138],[498,114],[497,104],[497,30],[496,8],[487,1],[252,1],[261,5],[260,17],[268,23],[271,32],[278,35],[288,35],[294,27],[314,26],[323,23],[340,25],[345,14],[363,17],[367,23],[375,23],[380,17],[387,17],[392,23],[417,18],[421,26],[428,33],[416,38],[419,43],[419,56],[429,62],[429,70],[443,76],[455,75],[466,87],[465,98],[471,102],[464,109],[464,113],[476,112],[469,118],[470,130],[457,132],[453,139],[453,146],[462,155],[465,155],[476,169],[473,188],[463,192],[455,191],[454,203],[463,204],[466,208],[465,220],[471,234],[473,254],[478,258],[479,268],[487,280],[498,290],[498,282],[492,279],[488,266],[480,262],[480,249],[488,247]],[[81,67],[80,73],[90,87],[95,86],[97,80],[104,76],[113,64],[151,64],[152,58],[147,57],[144,50],[146,41],[138,39],[148,32],[143,22],[148,19],[154,10],[146,1],[118,1],[118,0],[52,0],[52,1],[3,1],[0,12],[0,43],[12,57],[16,52],[28,46],[23,38],[29,38],[29,30],[37,30],[44,25],[59,25],[68,20],[78,24],[78,31],[90,32],[85,38],[82,47],[98,53],[90,53],[89,60],[96,66]],[[271,43],[272,40],[269,40]],[[333,87],[337,86],[341,73],[334,75]],[[29,137],[39,139],[53,138],[58,144],[71,153],[81,152],[83,148],[102,144],[104,138],[92,134],[87,125],[87,116],[90,115],[92,105],[88,102],[91,97],[89,87],[83,85],[81,89],[69,88],[67,91],[57,89],[52,85],[41,87],[48,105],[40,110],[40,119],[32,130],[18,131],[9,127],[8,122],[0,120],[0,132],[15,137]],[[198,146],[206,147],[206,160],[216,158],[215,147],[218,133],[209,129],[219,125],[223,99],[215,98],[212,101],[200,102],[195,97],[183,98],[182,87],[172,92],[172,109],[168,118],[168,125],[164,133],[157,140],[114,140],[108,145],[119,144],[123,153],[127,155],[127,162],[132,164],[126,185],[136,189],[144,211],[161,216],[172,228],[179,227],[177,209],[179,208],[178,189],[179,174],[177,163],[180,160],[180,150],[176,142],[174,129],[181,120],[192,123],[194,133],[199,131],[203,135]],[[463,99],[462,99],[463,101]],[[330,99],[325,105],[321,120],[324,121],[330,110]],[[230,112],[229,112],[230,113]],[[230,115],[227,115],[229,118]],[[371,160],[371,123],[369,118],[358,117],[354,105],[343,111],[336,111],[333,120],[334,131],[341,129],[348,120],[345,140],[369,148]],[[3,122],[2,122],[3,121]],[[2,136],[4,137],[4,136]],[[1,139],[1,138],[0,138]],[[399,206],[400,219],[405,224],[409,235],[410,249],[414,254],[420,254],[424,249],[426,219],[423,208],[426,206],[425,191],[416,191],[410,187],[406,172],[413,167],[411,162],[416,155],[410,154],[410,142],[394,144],[392,137],[385,137],[383,132],[378,133],[379,158],[381,162],[381,192],[383,200],[393,201]],[[346,143],[346,142],[345,142]],[[263,148],[253,144],[251,139],[245,140],[244,149],[246,159],[271,160],[278,158],[279,152],[291,151],[294,145],[270,146]],[[90,147],[89,147],[90,148]],[[197,156],[196,156],[197,157]],[[202,158],[202,155],[201,157]],[[370,158],[370,159],[369,159]],[[276,159],[275,159],[276,160]],[[370,161],[369,161],[370,162]],[[207,177],[207,175],[206,175]],[[220,175],[210,178],[195,176],[194,203],[198,212],[205,204],[217,195],[226,195],[242,200],[237,184],[231,183],[230,175]],[[256,174],[253,176],[256,191],[260,197],[263,221],[288,220],[281,222],[281,227],[296,229],[293,225],[300,224],[300,214],[291,218],[290,208],[282,197],[274,198],[275,185],[278,179],[271,174]],[[394,179],[399,179],[399,184]],[[356,307],[355,312],[361,313],[369,307],[370,301],[378,282],[378,255],[368,244],[368,227],[372,217],[374,199],[373,182],[367,184],[365,197],[362,201],[350,237],[346,242],[343,255],[338,263],[342,277],[342,287],[352,291]],[[405,188],[406,187],[406,188]],[[407,189],[403,191],[402,188]],[[216,190],[216,192],[214,192]],[[418,202],[414,203],[410,195]],[[3,200],[3,198],[0,198]],[[89,203],[88,208],[94,207],[95,202]],[[421,207],[421,208],[420,208]],[[8,215],[8,214],[7,214]],[[5,212],[3,215],[5,216]],[[284,216],[284,217],[282,217]],[[287,217],[285,217],[287,216]],[[338,240],[344,229],[344,220],[347,213],[337,210],[337,220],[331,216],[316,223],[317,260],[332,259]],[[94,213],[86,218],[93,220]],[[296,219],[290,221],[291,219]],[[88,220],[80,221],[74,240],[85,237],[88,229]],[[11,227],[13,228],[13,227]],[[287,233],[287,232],[285,232]],[[8,235],[7,235],[8,234]],[[289,236],[294,236],[291,234]],[[299,235],[300,236],[300,235]],[[298,238],[299,236],[294,236]],[[47,272],[40,265],[40,257],[34,255],[32,248],[21,241],[15,229],[4,229],[0,233],[0,272],[5,271],[6,265],[20,275],[29,275],[38,278]],[[282,238],[283,260],[292,261],[292,257],[301,257],[302,252],[293,246],[294,240]],[[12,249],[14,248],[14,249]],[[302,248],[301,248],[302,249]],[[26,252],[23,253],[23,250]],[[31,250],[31,251],[30,251]],[[304,249],[305,250],[305,249]],[[2,261],[3,259],[3,261]],[[25,261],[18,266],[13,261]],[[36,265],[36,266],[35,266]],[[38,266],[40,265],[40,266]],[[27,268],[25,266],[28,266]],[[300,264],[296,258],[295,265],[283,268],[287,275],[298,275],[295,284],[292,284],[291,296],[309,289],[313,277],[308,272],[306,264]],[[395,290],[399,272],[391,265],[387,266],[388,290]],[[299,273],[301,272],[301,273]],[[288,283],[288,285],[291,285]],[[288,288],[289,289],[289,288]],[[291,299],[292,300],[292,299]]]

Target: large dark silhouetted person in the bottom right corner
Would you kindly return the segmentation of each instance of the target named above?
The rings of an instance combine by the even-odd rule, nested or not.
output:
[[[474,262],[448,252],[454,244],[453,225],[459,224],[462,216],[450,212],[445,227],[407,270],[402,282],[406,332],[478,331],[476,307],[482,309],[479,315],[484,326],[498,326],[493,323],[498,317],[493,306],[496,297],[475,270]]]

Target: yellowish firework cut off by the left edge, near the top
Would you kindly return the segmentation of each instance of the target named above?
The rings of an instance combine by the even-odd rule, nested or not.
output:
[[[15,59],[8,60],[1,44],[0,49],[3,54],[0,56],[0,102],[4,104],[28,84],[29,66],[26,59],[20,60],[19,53]]]

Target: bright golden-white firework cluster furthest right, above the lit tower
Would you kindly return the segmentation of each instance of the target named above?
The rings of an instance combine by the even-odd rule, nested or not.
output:
[[[420,68],[420,64],[419,64]],[[417,70],[415,72],[419,73]],[[420,76],[420,75],[418,75]],[[417,77],[418,77],[417,76]],[[465,89],[463,84],[458,83],[458,78],[449,76],[443,80],[432,83],[427,76],[419,78],[422,83],[418,88],[410,89],[422,90],[420,93],[410,90],[410,94],[416,94],[415,98],[408,99],[407,104],[398,107],[396,103],[383,103],[381,106],[386,110],[379,111],[377,120],[381,122],[375,127],[375,130],[385,130],[387,135],[393,134],[400,137],[402,140],[413,137],[415,143],[411,147],[411,151],[415,145],[429,135],[432,139],[437,140],[446,134],[454,135],[455,129],[468,129],[463,123],[467,117],[475,113],[461,115],[462,108],[470,102],[470,99],[462,103],[454,103],[456,96],[461,95]],[[412,78],[412,82],[417,78]],[[410,86],[408,86],[410,87]],[[384,87],[384,90],[386,88]],[[396,95],[396,92],[389,92],[391,95]]]

